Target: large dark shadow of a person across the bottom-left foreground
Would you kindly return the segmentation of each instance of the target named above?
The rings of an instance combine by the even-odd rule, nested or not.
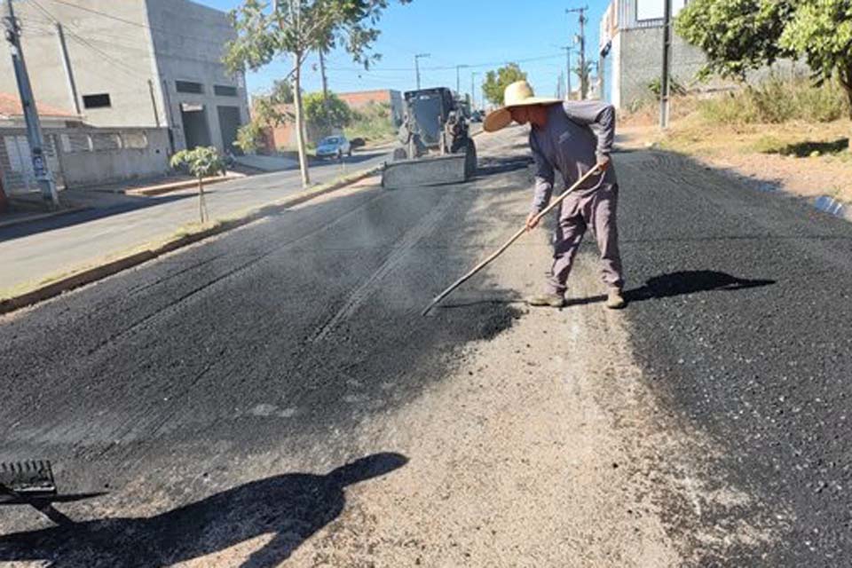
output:
[[[347,486],[382,476],[407,461],[400,454],[374,454],[327,475],[267,477],[154,517],[106,518],[0,536],[0,563],[162,566],[266,535],[271,540],[241,565],[277,566],[340,515]]]

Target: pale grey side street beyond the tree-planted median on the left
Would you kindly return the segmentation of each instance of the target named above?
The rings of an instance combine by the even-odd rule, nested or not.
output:
[[[387,154],[365,152],[343,165],[315,165],[312,182],[327,183],[385,159]],[[216,220],[300,191],[298,170],[288,170],[225,181],[209,186],[205,193],[209,217]],[[85,190],[67,190],[62,197],[68,205],[82,209],[0,225],[0,265],[4,267],[0,296],[162,241],[199,221],[194,187],[154,197]]]

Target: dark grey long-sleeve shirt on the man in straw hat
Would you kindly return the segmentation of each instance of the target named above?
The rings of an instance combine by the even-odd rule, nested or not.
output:
[[[548,206],[553,194],[555,170],[568,188],[598,159],[609,156],[615,138],[615,109],[597,100],[566,101],[548,107],[548,123],[544,128],[533,126],[530,148],[535,161],[535,194],[533,213]],[[601,185],[616,184],[615,169],[610,167],[604,177],[593,176],[577,191],[596,191]]]

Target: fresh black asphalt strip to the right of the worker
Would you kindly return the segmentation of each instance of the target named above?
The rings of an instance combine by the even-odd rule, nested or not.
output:
[[[631,162],[619,219],[635,354],[726,448],[719,486],[748,487],[789,526],[720,564],[848,566],[852,225],[675,155]]]

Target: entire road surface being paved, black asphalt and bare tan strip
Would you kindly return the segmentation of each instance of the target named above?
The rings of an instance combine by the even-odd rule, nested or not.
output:
[[[0,508],[0,560],[847,566],[852,225],[622,153],[626,312],[588,242],[568,308],[518,304],[540,232],[423,319],[525,215],[522,132],[479,144],[472,184],[335,194],[0,320],[0,459],[108,492],[67,527]]]

